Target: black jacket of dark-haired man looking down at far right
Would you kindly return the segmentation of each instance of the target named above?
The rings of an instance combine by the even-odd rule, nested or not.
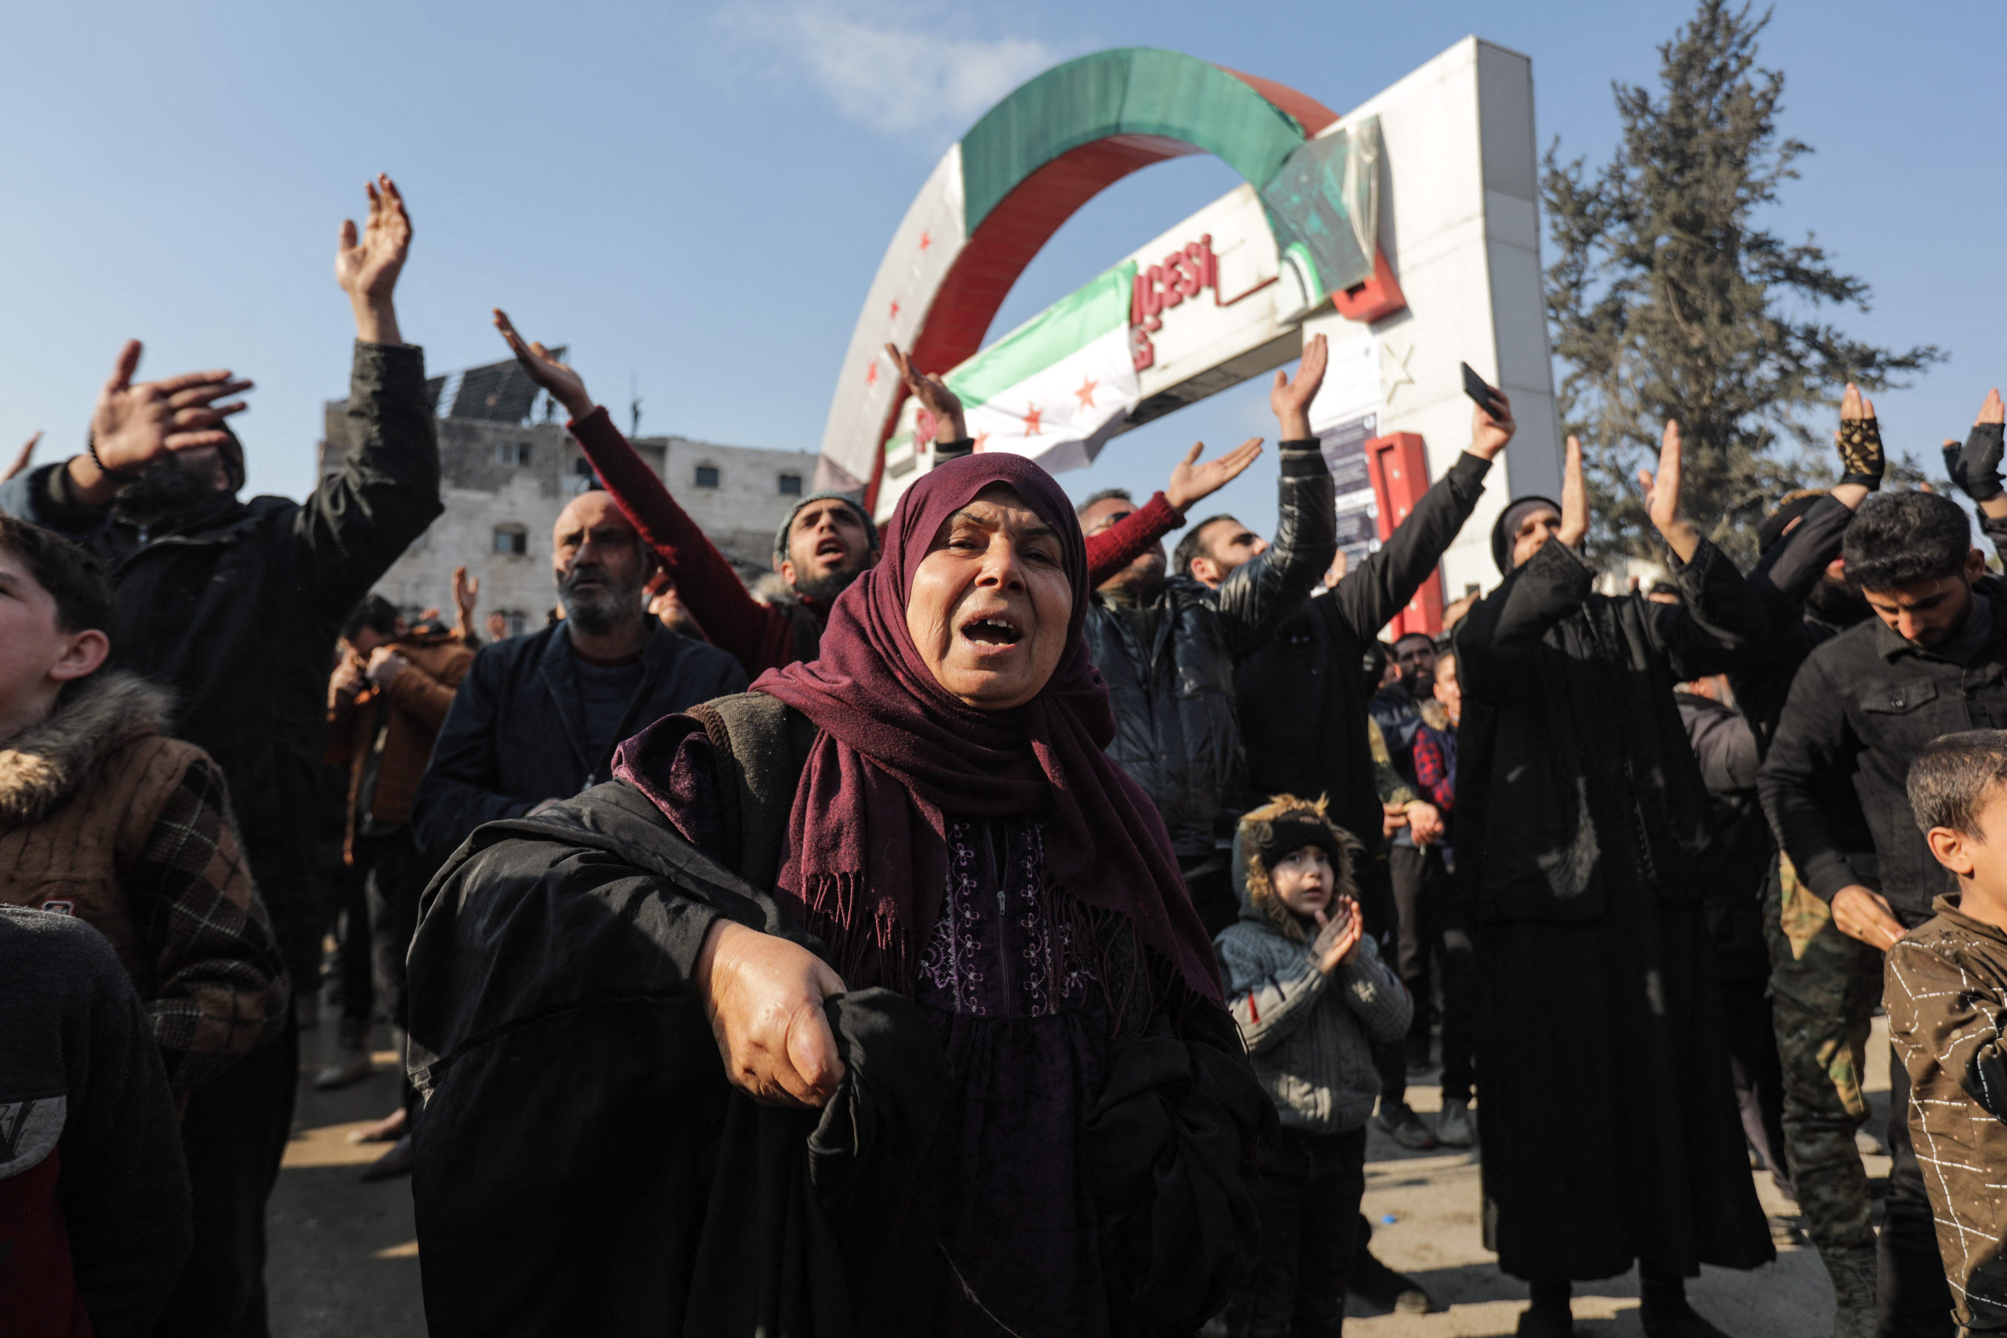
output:
[[[1881,893],[1899,911],[1931,915],[1951,891],[1909,810],[1909,764],[1927,742],[1959,730],[2007,728],[2007,582],[1973,588],[1991,602],[1991,640],[1971,664],[1919,650],[1881,618],[1840,632],[1798,670],[1758,788],[1798,881],[1824,901],[1865,879],[1822,802],[1828,776],[1852,784],[1881,863]]]

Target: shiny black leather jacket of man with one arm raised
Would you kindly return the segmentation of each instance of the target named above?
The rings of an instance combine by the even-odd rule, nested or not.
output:
[[[1088,608],[1088,646],[1116,714],[1108,756],[1156,800],[1180,857],[1212,851],[1214,820],[1244,802],[1234,666],[1303,606],[1337,552],[1317,441],[1282,443],[1276,501],[1274,546],[1218,590],[1172,576],[1144,610],[1102,594]]]

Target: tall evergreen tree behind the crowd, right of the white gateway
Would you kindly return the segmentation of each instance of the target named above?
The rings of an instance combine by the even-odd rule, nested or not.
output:
[[[1832,423],[1808,411],[1834,405],[1846,381],[1887,389],[1943,359],[1935,345],[1897,353],[1818,319],[1822,307],[1865,313],[1869,285],[1838,273],[1810,233],[1786,245],[1758,227],[1810,152],[1778,134],[1784,74],[1756,64],[1768,22],[1700,0],[1658,48],[1660,98],[1614,84],[1622,142],[1598,175],[1559,162],[1559,140],[1547,148],[1547,317],[1598,554],[1658,554],[1634,479],[1676,417],[1686,512],[1746,570],[1782,493],[1832,477],[1806,451]]]

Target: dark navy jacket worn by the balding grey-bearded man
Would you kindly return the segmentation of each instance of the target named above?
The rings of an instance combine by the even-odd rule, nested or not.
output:
[[[482,822],[518,818],[546,798],[578,794],[612,774],[612,748],[662,716],[741,692],[739,660],[644,622],[642,678],[614,744],[586,756],[578,658],[564,622],[484,646],[454,694],[411,798],[417,841],[452,851]]]

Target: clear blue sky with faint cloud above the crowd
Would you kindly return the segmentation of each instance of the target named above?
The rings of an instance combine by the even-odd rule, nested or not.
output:
[[[0,451],[80,449],[120,339],[142,375],[257,379],[237,425],[251,487],[311,485],[321,401],[353,335],[335,227],[389,171],[415,245],[405,337],[434,369],[494,361],[488,307],[568,343],[642,431],[815,449],[857,307],[939,152],[1056,60],[1170,46],[1345,110],[1465,34],[1531,54],[1541,142],[1600,160],[1610,82],[1648,82],[1686,4],[1268,2],[8,6],[0,84]],[[1764,62],[1784,130],[1816,154],[1770,219],[1816,231],[1875,287],[1838,321],[1951,361],[1877,397],[1885,437],[1963,435],[2007,381],[1999,329],[1997,0],[1786,0]],[[1092,201],[1040,255],[997,331],[1230,189],[1208,158]],[[1551,257],[1549,257],[1551,259]],[[1148,491],[1194,439],[1272,437],[1256,385],[1118,439],[1078,493]],[[1272,451],[1222,495],[1274,518]]]

